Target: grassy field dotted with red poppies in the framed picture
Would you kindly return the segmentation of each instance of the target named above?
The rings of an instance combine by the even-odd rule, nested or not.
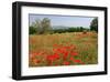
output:
[[[95,32],[32,34],[29,43],[29,66],[98,63],[98,35]]]

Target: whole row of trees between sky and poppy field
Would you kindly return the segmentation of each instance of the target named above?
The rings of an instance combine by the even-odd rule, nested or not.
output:
[[[44,18],[43,20],[35,20],[30,27],[30,34],[45,34],[45,33],[64,33],[64,32],[84,32],[84,31],[96,31],[98,32],[98,19],[95,18],[90,22],[90,29],[84,27],[68,27],[66,29],[53,29],[51,20]]]

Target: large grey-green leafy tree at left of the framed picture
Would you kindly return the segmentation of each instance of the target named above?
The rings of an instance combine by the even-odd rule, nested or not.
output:
[[[35,22],[32,22],[30,25],[30,34],[43,34],[43,33],[52,33],[51,20],[48,18],[44,18],[43,20],[36,19]]]

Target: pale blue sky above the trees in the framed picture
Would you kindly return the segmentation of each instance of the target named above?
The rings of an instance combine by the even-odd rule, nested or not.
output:
[[[95,17],[78,17],[78,16],[51,16],[51,14],[29,14],[30,25],[35,22],[36,19],[43,20],[48,18],[51,25],[63,25],[63,27],[84,27],[89,28],[90,22]]]

